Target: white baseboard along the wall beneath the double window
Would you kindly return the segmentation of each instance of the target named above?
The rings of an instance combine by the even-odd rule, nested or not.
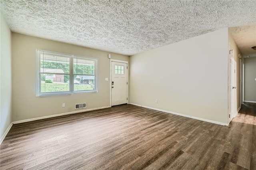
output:
[[[60,113],[60,114],[56,114],[56,115],[49,115],[49,116],[43,116],[43,117],[36,117],[36,118],[32,118],[32,119],[25,119],[25,120],[21,120],[21,121],[15,121],[15,122],[12,122],[12,123],[13,124],[18,124],[18,123],[36,121],[36,120],[40,120],[40,119],[51,118],[51,117],[58,117],[58,116],[64,116],[64,115],[71,115],[71,114],[75,114],[75,113],[82,113],[82,112],[94,111],[94,110],[99,110],[99,109],[105,109],[105,108],[109,108],[109,107],[110,106],[104,106],[104,107],[97,107],[97,108],[94,108],[94,109],[87,109],[87,110],[81,110],[81,111]]]

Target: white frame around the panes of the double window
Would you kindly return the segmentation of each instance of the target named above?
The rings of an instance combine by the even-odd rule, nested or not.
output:
[[[69,75],[69,91],[54,91],[54,92],[40,92],[41,88],[41,82],[40,82],[40,76],[41,76],[41,60],[40,60],[40,54],[46,52],[46,53],[51,53],[53,55],[58,55],[61,57],[67,57],[69,58],[69,72],[70,73],[57,73],[61,75]],[[84,91],[75,91],[74,90],[74,75],[79,75],[79,74],[74,74],[74,59],[88,59],[89,61],[94,61],[94,90],[84,90]],[[47,74],[47,73],[46,73]],[[53,74],[54,73],[50,73]],[[80,93],[98,93],[98,58],[93,58],[93,57],[85,57],[85,56],[80,56],[80,55],[71,55],[71,54],[66,54],[66,53],[58,53],[54,51],[46,51],[46,50],[41,50],[41,49],[36,49],[36,97],[47,97],[47,96],[59,96],[59,95],[72,95],[72,94],[80,94]]]

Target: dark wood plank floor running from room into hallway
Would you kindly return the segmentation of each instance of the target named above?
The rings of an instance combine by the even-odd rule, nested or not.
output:
[[[229,127],[133,105],[15,124],[0,169],[256,170],[256,104]]]

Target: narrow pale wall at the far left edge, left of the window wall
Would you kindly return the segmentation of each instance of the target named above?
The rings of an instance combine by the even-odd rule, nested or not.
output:
[[[12,122],[11,31],[0,12],[0,138]]]

